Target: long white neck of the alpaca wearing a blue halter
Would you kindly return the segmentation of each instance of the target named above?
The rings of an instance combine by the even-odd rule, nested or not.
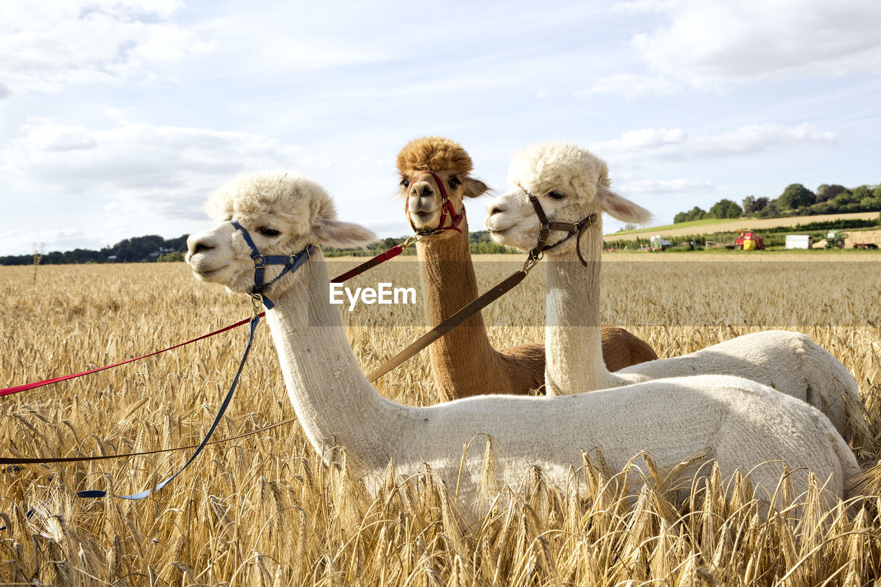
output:
[[[362,374],[337,307],[329,304],[321,252],[287,281],[285,292],[270,294],[276,307],[266,320],[300,427],[326,457],[343,447],[366,467],[385,466],[413,408],[382,398]]]

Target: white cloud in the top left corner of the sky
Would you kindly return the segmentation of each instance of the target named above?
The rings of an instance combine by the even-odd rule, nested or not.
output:
[[[0,78],[7,93],[26,93],[150,75],[157,63],[207,48],[170,20],[180,5],[173,0],[0,3]]]

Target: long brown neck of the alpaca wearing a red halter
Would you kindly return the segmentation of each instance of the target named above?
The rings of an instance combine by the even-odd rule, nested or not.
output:
[[[417,244],[422,271],[422,293],[426,299],[426,324],[434,327],[474,301],[478,280],[471,264],[468,221],[462,234],[455,231],[442,238],[428,237]],[[434,381],[445,401],[482,393],[498,393],[508,374],[500,365],[499,353],[486,337],[480,314],[449,331],[428,347]]]

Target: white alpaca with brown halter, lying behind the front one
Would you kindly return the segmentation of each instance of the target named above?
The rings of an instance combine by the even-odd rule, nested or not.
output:
[[[569,238],[546,251],[547,393],[582,393],[683,375],[739,375],[817,407],[850,437],[846,408],[851,399],[860,402],[854,377],[840,361],[799,332],[757,332],[682,357],[609,372],[603,364],[596,328],[600,323],[602,214],[608,212],[634,223],[646,222],[650,214],[613,193],[603,160],[576,145],[543,143],[516,153],[508,181],[519,189],[487,205],[486,228],[497,242],[524,251],[536,247],[540,222],[527,192],[537,198],[552,222],[592,219],[577,239]],[[553,244],[565,236],[552,230],[546,238]],[[587,266],[576,258],[579,241]]]

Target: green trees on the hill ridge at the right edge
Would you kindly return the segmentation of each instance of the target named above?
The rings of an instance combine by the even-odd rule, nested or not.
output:
[[[688,212],[679,212],[673,222],[688,222],[705,218],[779,218],[784,216],[813,216],[816,214],[841,214],[845,212],[881,211],[881,184],[845,188],[843,185],[824,183],[816,192],[801,183],[790,183],[783,193],[774,199],[768,197],[744,197],[743,205],[729,199],[713,204],[709,211],[694,206]]]

